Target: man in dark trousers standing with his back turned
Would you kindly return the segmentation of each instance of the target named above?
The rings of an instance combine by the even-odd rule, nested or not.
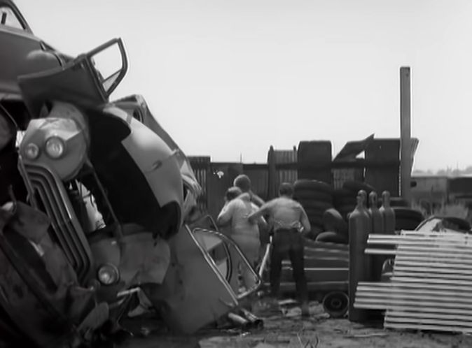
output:
[[[293,186],[284,182],[279,188],[279,198],[265,203],[249,216],[256,224],[257,219],[269,215],[274,236],[270,254],[270,289],[272,296],[279,296],[282,260],[288,254],[293,269],[293,279],[300,299],[302,316],[310,316],[308,306],[307,280],[303,262],[303,233],[310,232],[311,226],[307,213],[300,203],[293,201]]]

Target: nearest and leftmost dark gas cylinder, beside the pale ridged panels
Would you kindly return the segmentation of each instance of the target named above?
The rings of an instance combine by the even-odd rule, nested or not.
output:
[[[356,208],[349,215],[349,321],[368,319],[366,310],[354,308],[357,284],[370,280],[370,259],[364,253],[370,232],[370,218],[364,208],[363,195],[357,195]]]

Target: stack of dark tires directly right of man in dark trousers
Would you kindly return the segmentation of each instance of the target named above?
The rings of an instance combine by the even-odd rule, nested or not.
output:
[[[317,180],[297,180],[293,184],[293,198],[298,201],[312,225],[310,238],[324,231],[323,214],[325,210],[333,208],[333,187]]]

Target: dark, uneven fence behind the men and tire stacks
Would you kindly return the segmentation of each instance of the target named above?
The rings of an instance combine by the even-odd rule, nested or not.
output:
[[[331,151],[331,148],[327,150]],[[298,179],[321,180],[335,188],[341,187],[346,180],[363,181],[377,191],[387,190],[392,196],[398,196],[398,153],[398,139],[376,139],[367,147],[363,159],[317,161],[314,157],[304,161],[296,147],[282,151],[270,147],[266,164],[211,162],[210,157],[189,159],[203,188],[198,198],[199,206],[216,216],[223,207],[225,191],[232,186],[235,177],[242,173],[249,176],[253,191],[264,200],[277,196],[282,182],[295,182]],[[331,153],[329,155],[331,158]]]

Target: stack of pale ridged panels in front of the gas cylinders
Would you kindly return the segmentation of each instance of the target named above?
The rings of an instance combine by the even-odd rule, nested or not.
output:
[[[359,282],[354,307],[386,310],[385,328],[472,333],[472,235],[369,235],[366,254],[394,254],[389,282]]]

